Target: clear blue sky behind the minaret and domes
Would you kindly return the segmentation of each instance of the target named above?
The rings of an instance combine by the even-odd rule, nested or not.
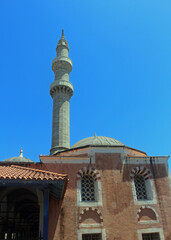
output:
[[[73,61],[71,145],[109,136],[171,155],[170,0],[0,0],[0,159],[51,148],[51,62]]]

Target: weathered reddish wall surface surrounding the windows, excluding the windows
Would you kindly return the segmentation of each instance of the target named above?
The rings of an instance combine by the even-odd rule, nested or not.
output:
[[[171,194],[164,164],[155,164],[153,170],[150,164],[143,165],[152,173],[155,172],[155,178],[152,176],[151,180],[155,188],[157,203],[141,205],[134,202],[130,178],[131,170],[137,165],[123,165],[120,153],[96,153],[93,167],[101,175],[103,205],[94,207],[94,212],[92,209],[87,210],[81,222],[79,217],[86,207],[77,206],[77,173],[87,166],[88,164],[72,163],[46,163],[37,166],[49,171],[68,174],[69,177],[62,205],[55,203],[55,200],[50,201],[49,240],[75,240],[78,229],[83,228],[84,224],[95,222],[105,229],[107,240],[137,240],[137,230],[146,228],[162,228],[165,239],[171,239]],[[91,208],[91,203],[89,208]],[[152,209],[149,210],[151,215],[148,213],[149,215],[144,215],[139,221],[140,215],[138,214],[142,214],[142,209],[145,209],[143,214],[148,213],[148,209]],[[101,222],[99,222],[97,210],[101,213]],[[155,220],[153,210],[157,213],[157,220]],[[152,216],[151,219],[150,216]],[[143,222],[145,220],[146,223]]]

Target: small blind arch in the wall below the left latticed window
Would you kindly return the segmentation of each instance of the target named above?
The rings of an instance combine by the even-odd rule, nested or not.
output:
[[[91,219],[91,220],[89,220]],[[80,212],[79,215],[79,224],[83,223],[97,223],[97,224],[102,224],[103,223],[103,217],[101,214],[101,211],[97,208],[94,207],[88,207],[83,209]]]

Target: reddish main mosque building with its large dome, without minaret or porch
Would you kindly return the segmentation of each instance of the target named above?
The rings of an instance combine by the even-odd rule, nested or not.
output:
[[[40,161],[69,178],[50,239],[171,239],[168,157],[95,136]]]

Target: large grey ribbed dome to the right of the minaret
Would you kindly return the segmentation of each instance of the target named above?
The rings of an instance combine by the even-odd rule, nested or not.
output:
[[[120,141],[104,136],[94,136],[89,138],[84,138],[77,143],[75,143],[71,148],[78,148],[83,146],[125,146]]]

